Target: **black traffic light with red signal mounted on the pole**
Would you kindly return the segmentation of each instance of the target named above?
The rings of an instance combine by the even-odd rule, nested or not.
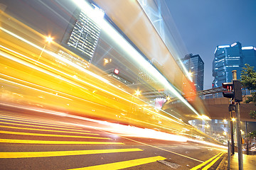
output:
[[[223,83],[223,88],[229,91],[223,91],[223,97],[235,98],[235,102],[242,101],[242,85],[239,80],[233,80],[233,83]]]

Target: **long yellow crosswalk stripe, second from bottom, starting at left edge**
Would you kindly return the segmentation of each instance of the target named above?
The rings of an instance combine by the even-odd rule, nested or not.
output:
[[[96,149],[96,150],[74,150],[74,151],[55,151],[55,152],[0,152],[0,158],[31,158],[31,157],[61,157],[84,154],[109,154],[121,152],[143,151],[138,148],[129,149]]]

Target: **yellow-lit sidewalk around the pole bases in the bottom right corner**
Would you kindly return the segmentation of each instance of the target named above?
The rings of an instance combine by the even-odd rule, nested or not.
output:
[[[242,154],[242,159],[243,159],[244,170],[256,169],[256,155]],[[228,169],[228,154],[225,155],[225,157],[223,158],[223,161],[218,166],[218,170],[226,170],[226,169]],[[235,154],[230,157],[230,169],[233,169],[233,170],[239,169],[237,152],[235,152]]]

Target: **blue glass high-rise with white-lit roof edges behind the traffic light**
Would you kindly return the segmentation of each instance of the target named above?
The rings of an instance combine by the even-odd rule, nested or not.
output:
[[[214,54],[213,88],[222,86],[224,82],[231,82],[233,70],[237,71],[237,77],[240,79],[245,64],[256,67],[256,47],[242,47],[240,42],[218,45]]]

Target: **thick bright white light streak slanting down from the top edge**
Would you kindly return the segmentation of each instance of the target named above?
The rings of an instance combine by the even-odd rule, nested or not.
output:
[[[85,13],[91,17],[92,19],[93,17],[93,8],[90,6],[90,4],[87,4],[87,2],[82,1],[82,0],[73,0],[73,2],[75,4],[77,4],[77,6],[81,9],[84,9]],[[186,101],[185,98],[183,98],[183,96],[181,96],[181,94],[178,93],[178,91],[176,91],[176,89],[174,89],[174,87],[164,78],[163,75],[161,75],[151,64],[149,64],[149,62],[147,62],[144,57],[142,57],[142,55],[139,54],[139,52],[137,52],[137,50],[134,49],[134,47],[132,47],[132,45],[129,44],[129,42],[127,42],[127,40],[125,40],[122,35],[120,35],[117,30],[115,30],[110,23],[108,23],[105,20],[102,20],[101,22],[98,22],[97,20],[94,20],[95,23],[97,23],[102,30],[105,30],[106,33],[108,33],[110,35],[110,38],[112,38],[117,45],[119,45],[120,47],[122,47],[122,49],[127,52],[127,54],[129,54],[129,56],[138,64],[140,64],[140,66],[144,67],[144,69],[146,69],[152,77],[154,77],[155,80],[158,80],[159,82],[161,82],[161,84],[163,84],[166,89],[168,89],[169,91],[171,91],[175,96],[177,96],[186,106],[188,106],[188,108],[191,109],[191,111],[193,111],[193,113],[196,113],[196,115],[200,115],[195,108],[193,108],[191,106],[190,103],[188,103],[188,101]]]

